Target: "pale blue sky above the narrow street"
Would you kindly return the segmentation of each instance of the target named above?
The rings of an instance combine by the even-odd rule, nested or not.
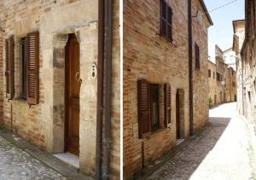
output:
[[[208,11],[216,9],[225,3],[230,3],[232,0],[205,0]],[[244,19],[244,2],[245,0],[237,0],[222,9],[215,10],[210,13],[213,21],[213,26],[208,30],[208,46],[209,55],[214,57],[215,44],[225,50],[232,46],[233,41],[233,26],[232,20]]]

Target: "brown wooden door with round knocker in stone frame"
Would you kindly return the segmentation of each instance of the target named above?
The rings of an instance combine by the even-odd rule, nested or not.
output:
[[[66,151],[79,155],[79,42],[69,34],[66,45]]]

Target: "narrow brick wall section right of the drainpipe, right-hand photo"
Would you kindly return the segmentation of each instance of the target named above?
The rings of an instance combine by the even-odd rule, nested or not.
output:
[[[200,10],[203,13],[203,7],[200,1],[192,1],[192,16]],[[200,47],[201,59],[200,70],[195,70],[195,54],[193,55],[193,94],[194,94],[194,129],[201,130],[201,127],[208,122],[208,32],[210,26],[207,16],[198,15],[193,19],[193,49],[195,43]],[[195,50],[193,50],[195,53]]]

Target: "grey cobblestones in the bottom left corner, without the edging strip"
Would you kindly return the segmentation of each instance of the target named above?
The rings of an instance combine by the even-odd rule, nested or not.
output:
[[[0,180],[67,179],[0,136]]]

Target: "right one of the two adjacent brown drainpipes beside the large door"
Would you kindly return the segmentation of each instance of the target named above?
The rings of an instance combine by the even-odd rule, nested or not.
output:
[[[105,79],[105,136],[103,139],[103,175],[102,179],[109,179],[111,136],[111,105],[112,105],[112,50],[113,50],[113,1],[105,1],[105,34],[106,34],[106,79]]]

